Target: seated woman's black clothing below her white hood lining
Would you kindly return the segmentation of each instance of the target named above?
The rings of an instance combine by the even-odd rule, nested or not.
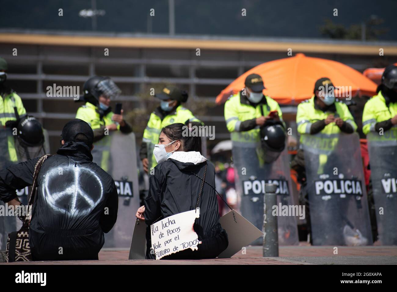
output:
[[[215,187],[215,167],[209,162],[194,164],[180,162],[172,158],[161,162],[150,174],[149,193],[145,199],[146,228],[146,259],[155,259],[150,253],[150,225],[155,221],[171,215],[194,210],[204,176],[205,163],[207,171],[205,180]],[[200,176],[198,178],[191,172]],[[163,259],[206,259],[215,258],[224,251],[228,244],[226,231],[219,223],[218,201],[213,188],[204,183],[202,195],[198,201],[200,217],[196,219],[193,228],[202,244],[197,251],[185,249]]]

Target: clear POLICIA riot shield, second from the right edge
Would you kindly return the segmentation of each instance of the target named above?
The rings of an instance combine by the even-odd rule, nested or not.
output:
[[[302,135],[313,245],[372,244],[358,133]]]

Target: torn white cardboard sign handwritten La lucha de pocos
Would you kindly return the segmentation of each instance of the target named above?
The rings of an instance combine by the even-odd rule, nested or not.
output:
[[[152,249],[156,259],[191,248],[197,250],[197,233],[193,230],[195,219],[200,217],[200,209],[167,217],[150,226]]]

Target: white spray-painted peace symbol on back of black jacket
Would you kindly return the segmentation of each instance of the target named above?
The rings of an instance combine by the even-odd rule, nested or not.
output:
[[[98,175],[75,164],[50,168],[41,185],[42,196],[52,210],[71,217],[91,213],[104,194]]]

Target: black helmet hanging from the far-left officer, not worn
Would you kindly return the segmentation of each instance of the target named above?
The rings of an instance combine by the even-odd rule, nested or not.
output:
[[[41,146],[44,143],[41,124],[33,116],[21,118],[17,126],[17,137],[23,144],[31,147]]]

